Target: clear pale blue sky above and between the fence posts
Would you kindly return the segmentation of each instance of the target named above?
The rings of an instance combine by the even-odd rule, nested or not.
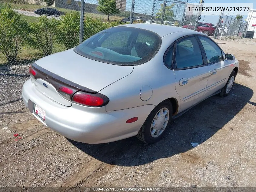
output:
[[[173,0],[168,0],[168,1],[173,1]],[[179,0],[186,2],[186,0]],[[97,0],[85,0],[86,3],[93,3],[93,4],[98,4]],[[152,6],[153,6],[154,0],[135,0],[135,10],[134,12],[136,13],[143,13],[147,15],[151,15],[152,12]],[[189,3],[198,3],[199,0],[188,0]],[[157,13],[158,10],[161,8],[162,1],[156,1],[155,5],[155,12]],[[256,9],[256,1],[255,0],[204,0],[204,3],[254,3],[254,9]],[[131,11],[131,4],[132,0],[126,0],[126,10]],[[167,3],[168,5],[171,5],[171,2]],[[183,12],[184,12],[185,4],[175,4],[173,7],[174,13],[177,12],[176,15],[176,20],[182,20]],[[218,22],[219,16],[209,16],[209,15],[201,15],[201,20],[200,22],[205,22],[205,23],[212,23],[216,24]],[[226,18],[226,17],[225,17]],[[244,16],[243,19],[246,19],[247,16]]]

